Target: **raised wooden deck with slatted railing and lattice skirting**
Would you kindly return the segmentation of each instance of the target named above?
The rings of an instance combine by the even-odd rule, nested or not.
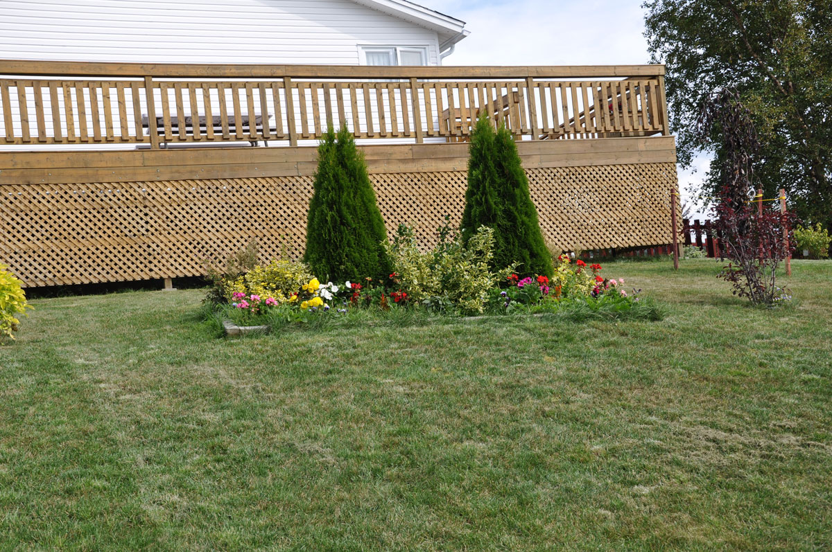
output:
[[[0,262],[48,286],[201,275],[252,238],[300,254],[329,121],[367,140],[389,231],[431,244],[461,217],[458,142],[483,112],[517,136],[552,247],[667,244],[662,73],[0,61]],[[284,147],[235,147],[267,142]]]

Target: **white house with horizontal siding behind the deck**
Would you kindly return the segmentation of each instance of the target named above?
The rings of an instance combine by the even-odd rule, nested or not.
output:
[[[464,27],[407,0],[0,0],[0,57],[441,65]]]

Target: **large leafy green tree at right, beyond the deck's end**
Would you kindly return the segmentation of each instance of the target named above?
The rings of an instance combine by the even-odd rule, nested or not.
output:
[[[800,218],[832,228],[832,0],[648,0],[643,7],[652,61],[666,63],[681,164],[701,148],[696,118],[705,97],[735,89],[760,137],[755,184],[768,197],[785,188]],[[716,195],[725,157],[714,138],[708,195]]]

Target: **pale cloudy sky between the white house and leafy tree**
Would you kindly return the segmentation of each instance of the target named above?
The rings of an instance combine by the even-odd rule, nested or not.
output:
[[[466,22],[471,35],[445,65],[637,65],[650,62],[641,0],[415,0]],[[682,200],[710,164],[679,170]],[[691,218],[706,218],[694,206]]]

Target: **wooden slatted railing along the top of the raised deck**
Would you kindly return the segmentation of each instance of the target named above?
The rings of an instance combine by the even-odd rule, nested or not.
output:
[[[354,67],[0,61],[0,145],[668,134],[664,66]],[[526,136],[527,138],[522,138]]]

